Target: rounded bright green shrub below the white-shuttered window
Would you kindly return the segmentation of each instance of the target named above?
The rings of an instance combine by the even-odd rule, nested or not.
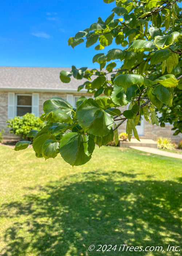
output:
[[[23,139],[31,129],[39,130],[45,126],[45,123],[39,123],[39,117],[32,113],[26,113],[24,116],[15,116],[6,121],[7,127],[11,128],[10,133],[21,136]]]

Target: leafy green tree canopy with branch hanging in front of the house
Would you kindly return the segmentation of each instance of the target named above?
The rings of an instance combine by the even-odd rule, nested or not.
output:
[[[139,140],[135,127],[139,114],[159,125],[156,110],[173,108],[174,95],[181,93],[180,1],[104,0],[114,1],[116,7],[105,21],[99,17],[68,40],[72,48],[83,42],[86,47],[97,44],[99,53],[93,63],[98,63],[100,70],[72,66],[71,72],[60,72],[64,83],[69,83],[71,76],[87,79],[78,91],[86,88],[95,99],[80,97],[76,109],[58,97],[44,102],[45,113],[40,120],[47,125],[33,139],[37,157],[54,158],[60,153],[72,166],[82,165],[90,160],[95,143],[100,147],[114,137],[118,143],[117,129],[124,121],[128,139],[134,134]],[[100,52],[113,42],[118,48]],[[119,107],[128,103],[128,110],[121,113]],[[175,122],[180,132],[180,124]]]

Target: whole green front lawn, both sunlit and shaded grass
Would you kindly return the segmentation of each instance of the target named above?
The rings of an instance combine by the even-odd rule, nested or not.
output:
[[[102,147],[72,168],[32,148],[0,146],[0,155],[1,256],[181,255],[167,252],[182,251],[181,159]],[[99,244],[118,247],[96,252]],[[164,252],[119,252],[121,244]]]

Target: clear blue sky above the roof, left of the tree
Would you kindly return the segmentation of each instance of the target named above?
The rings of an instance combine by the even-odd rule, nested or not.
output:
[[[114,7],[103,0],[1,0],[0,66],[98,68],[95,46],[72,49],[67,41]]]

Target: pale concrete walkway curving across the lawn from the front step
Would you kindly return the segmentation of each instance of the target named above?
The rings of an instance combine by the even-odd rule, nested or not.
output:
[[[151,147],[139,147],[139,146],[130,146],[131,148],[144,151],[151,154],[157,154],[157,155],[164,155],[165,157],[174,157],[174,158],[180,158],[182,159],[182,154],[178,153],[170,153],[167,151],[163,151],[157,148],[151,148]]]

